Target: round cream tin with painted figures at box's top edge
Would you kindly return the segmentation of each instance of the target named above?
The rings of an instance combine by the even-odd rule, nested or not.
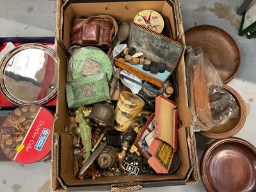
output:
[[[157,33],[161,33],[164,28],[163,17],[154,10],[141,11],[134,17],[133,21]]]

